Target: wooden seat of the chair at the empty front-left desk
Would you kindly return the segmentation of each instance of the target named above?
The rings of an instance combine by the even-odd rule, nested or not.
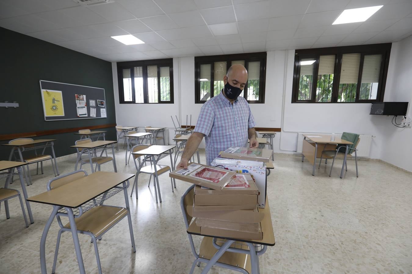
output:
[[[98,237],[126,215],[127,210],[123,207],[100,205],[84,212],[79,218],[75,218],[75,222],[77,230],[88,231]],[[64,227],[70,228],[70,223]]]

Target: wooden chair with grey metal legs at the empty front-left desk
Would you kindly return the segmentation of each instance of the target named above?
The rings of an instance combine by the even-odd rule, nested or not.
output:
[[[47,183],[47,191],[56,189],[65,184],[81,179],[82,177],[85,177],[85,176],[87,176],[87,172],[85,170],[76,170],[71,173],[61,175],[59,177],[56,177],[50,180]],[[94,200],[94,202],[96,203],[96,200]],[[61,209],[56,215],[57,223],[59,223],[60,230],[59,230],[59,233],[57,234],[56,251],[54,252],[53,269],[52,269],[53,274],[56,272],[56,262],[57,262],[57,255],[59,253],[61,233],[63,233],[64,231],[71,232],[70,223],[66,223],[66,225],[63,226],[61,217],[67,216],[67,214],[64,212],[61,212]],[[101,269],[101,264],[100,264],[99,251],[97,248],[97,239],[101,240],[103,234],[108,232],[110,228],[112,228],[117,223],[119,223],[119,221],[121,221],[124,217],[130,216],[130,213],[124,207],[103,205],[103,202],[96,204],[95,207],[92,207],[86,212],[83,212],[82,210],[80,210],[80,212],[82,212],[82,214],[75,216],[77,233],[86,234],[91,237],[91,242],[93,242],[94,244],[94,252],[96,255],[98,273],[101,274],[102,269]],[[130,232],[133,252],[136,252],[136,247],[134,244],[134,237],[133,237],[133,228],[131,226],[130,219],[129,219],[129,232]]]

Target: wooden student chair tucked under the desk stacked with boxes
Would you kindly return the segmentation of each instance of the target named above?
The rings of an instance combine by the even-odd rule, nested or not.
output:
[[[182,198],[180,198],[180,208],[182,210],[186,230],[189,228],[190,223],[192,221],[192,216],[187,214],[186,207],[193,206],[193,198],[194,185],[190,186],[185,191],[185,193],[183,193]],[[225,239],[203,237],[202,242],[200,244],[199,253],[197,253],[194,247],[192,235],[187,233],[187,236],[189,237],[192,253],[196,258],[192,264],[192,269],[190,269],[190,274],[193,273],[194,267],[196,265],[200,266],[201,262],[208,263],[208,261],[213,257],[213,255],[215,255],[215,253],[218,251],[218,248],[220,248],[220,246],[222,246],[222,244],[225,243]],[[262,247],[261,250],[256,252],[256,255],[258,255],[257,258],[259,258],[260,255],[265,253],[267,249],[267,246],[260,247]],[[250,253],[250,251],[245,243],[234,242],[234,244],[232,244],[231,247],[229,247],[229,249],[225,253],[223,253],[219,260],[215,262],[215,265],[248,274],[251,272],[250,255],[248,253]]]

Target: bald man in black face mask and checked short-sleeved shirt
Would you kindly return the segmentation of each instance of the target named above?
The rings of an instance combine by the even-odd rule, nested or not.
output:
[[[223,77],[225,87],[219,95],[209,99],[201,108],[194,132],[187,140],[179,167],[187,163],[206,139],[206,164],[210,165],[219,152],[229,147],[258,147],[255,118],[246,99],[238,97],[248,81],[248,71],[241,64],[234,64]]]

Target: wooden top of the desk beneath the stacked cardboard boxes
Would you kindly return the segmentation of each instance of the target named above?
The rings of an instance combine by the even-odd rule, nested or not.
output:
[[[187,229],[187,233],[200,235],[200,236],[207,236],[207,237],[219,237],[222,239],[232,239],[239,242],[248,242],[253,244],[263,244],[267,246],[274,246],[275,245],[275,235],[273,233],[273,226],[272,226],[272,217],[270,216],[270,208],[269,203],[267,201],[266,196],[266,206],[265,208],[258,208],[259,212],[265,213],[265,217],[260,222],[260,226],[262,227],[263,232],[263,239],[261,240],[252,240],[252,239],[235,239],[235,238],[228,238],[228,237],[220,237],[219,235],[204,235],[200,234],[200,226],[197,226],[196,220],[194,219],[190,224],[189,228]]]

